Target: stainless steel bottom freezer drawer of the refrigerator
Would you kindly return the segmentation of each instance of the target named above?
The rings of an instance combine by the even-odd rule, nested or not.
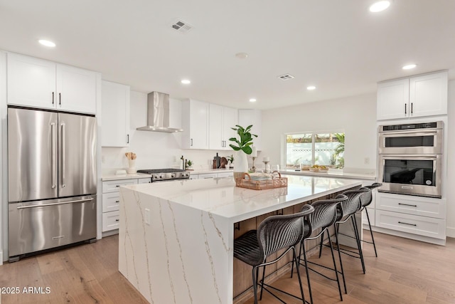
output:
[[[9,256],[97,236],[96,196],[9,204]]]

